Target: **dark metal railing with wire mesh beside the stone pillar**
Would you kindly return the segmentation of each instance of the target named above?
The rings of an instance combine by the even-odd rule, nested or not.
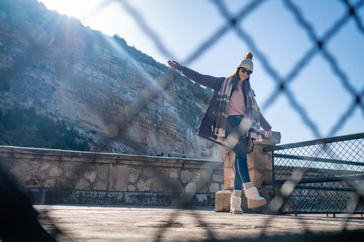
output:
[[[364,213],[364,133],[267,147],[272,151],[275,194],[294,189],[280,212]],[[296,180],[295,183],[292,181]],[[354,206],[354,207],[353,207]]]

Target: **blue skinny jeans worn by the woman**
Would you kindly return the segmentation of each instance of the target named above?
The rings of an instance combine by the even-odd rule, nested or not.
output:
[[[226,121],[226,131],[225,138],[234,131],[234,128],[238,126],[241,120],[244,118],[244,115],[232,115],[227,117]],[[250,182],[250,176],[248,171],[248,157],[245,152],[245,144],[248,138],[241,137],[239,142],[235,145],[234,149],[232,149],[235,153],[234,160],[234,190],[241,190],[243,187],[243,183]]]

